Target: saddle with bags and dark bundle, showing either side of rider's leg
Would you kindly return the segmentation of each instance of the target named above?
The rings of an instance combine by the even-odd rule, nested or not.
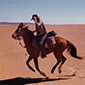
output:
[[[56,36],[56,33],[54,31],[47,33],[47,38],[44,41],[45,48],[54,47],[54,45],[56,44],[55,36]],[[35,48],[39,48],[37,36],[33,38],[32,46]]]

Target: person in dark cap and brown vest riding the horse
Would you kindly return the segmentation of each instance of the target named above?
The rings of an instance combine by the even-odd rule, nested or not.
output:
[[[44,26],[44,23],[43,23],[42,19],[40,19],[38,17],[37,14],[32,15],[31,20],[33,20],[35,22],[36,30],[33,31],[33,33],[37,32],[37,37],[39,39],[39,46],[41,49],[41,57],[42,58],[47,57],[46,52],[45,52],[45,46],[44,46],[44,40],[46,39],[47,32],[46,32],[46,28]]]

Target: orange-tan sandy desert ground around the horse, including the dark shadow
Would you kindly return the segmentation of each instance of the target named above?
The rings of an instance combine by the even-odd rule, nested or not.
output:
[[[34,26],[29,26],[33,30]],[[54,30],[57,34],[71,41],[77,48],[78,55],[85,56],[85,25],[47,25],[47,31]],[[11,35],[15,25],[0,25],[0,85],[85,85],[85,59],[77,60],[64,52],[67,61],[62,73],[51,68],[57,62],[51,53],[47,58],[39,58],[39,67],[50,78],[46,80],[37,71],[34,73],[26,66],[28,56],[25,49]],[[30,64],[33,68],[34,62]],[[74,74],[74,76],[73,76]]]

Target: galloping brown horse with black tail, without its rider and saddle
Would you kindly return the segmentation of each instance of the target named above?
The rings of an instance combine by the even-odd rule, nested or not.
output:
[[[23,25],[24,25],[23,23],[19,24],[17,30],[12,34],[12,37],[16,40],[20,40],[21,36],[23,37],[26,51],[30,55],[28,60],[26,61],[26,64],[29,67],[29,69],[32,70],[33,72],[35,72],[35,70],[29,64],[29,62],[33,59],[37,71],[44,77],[48,78],[46,76],[46,74],[39,69],[39,66],[38,66],[38,57],[40,55],[40,49],[36,48],[32,45],[32,41],[35,36],[34,36],[33,32],[31,30],[29,30],[27,27],[23,28]],[[59,73],[61,73],[62,72],[61,67],[64,64],[64,62],[66,61],[66,58],[63,55],[63,52],[65,49],[68,49],[68,52],[71,54],[72,57],[74,57],[76,59],[82,59],[82,58],[77,56],[76,47],[70,41],[68,41],[62,37],[59,37],[59,36],[55,36],[55,41],[56,41],[56,45],[54,47],[52,47],[50,49],[46,48],[46,54],[53,52],[53,54],[57,60],[56,64],[53,66],[53,68],[51,70],[51,73],[54,73],[54,70],[56,69],[56,67],[59,64],[60,65],[59,65],[58,71],[59,71]]]

